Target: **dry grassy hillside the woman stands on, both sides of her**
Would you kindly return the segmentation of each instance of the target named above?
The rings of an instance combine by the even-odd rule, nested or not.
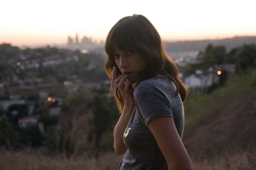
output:
[[[184,145],[194,170],[256,169],[256,70],[233,76],[213,93],[184,102]],[[65,159],[63,154],[10,152],[0,148],[0,169],[116,169],[113,151]],[[31,161],[32,160],[32,161]]]

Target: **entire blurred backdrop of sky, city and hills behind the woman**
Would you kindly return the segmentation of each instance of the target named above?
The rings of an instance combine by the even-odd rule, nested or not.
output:
[[[0,169],[117,169],[104,41],[132,14],[151,20],[189,90],[182,140],[194,169],[255,169],[255,5],[2,2]]]

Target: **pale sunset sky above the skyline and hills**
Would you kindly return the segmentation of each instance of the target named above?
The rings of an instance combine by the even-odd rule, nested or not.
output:
[[[0,43],[65,44],[68,36],[104,40],[122,17],[142,14],[163,40],[256,36],[256,1],[2,1]]]

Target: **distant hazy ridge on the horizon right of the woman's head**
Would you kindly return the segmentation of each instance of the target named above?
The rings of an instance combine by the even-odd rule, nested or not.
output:
[[[216,40],[164,42],[167,52],[204,51],[208,44],[225,45],[227,52],[243,44],[256,44],[256,37],[234,37]]]

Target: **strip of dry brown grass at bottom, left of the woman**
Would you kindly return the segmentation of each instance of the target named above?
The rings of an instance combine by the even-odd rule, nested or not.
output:
[[[120,157],[115,153],[105,153],[97,158],[89,158],[88,155],[79,156],[73,160],[67,160],[61,155],[43,156],[31,154],[26,151],[9,152],[2,151],[0,154],[1,170],[99,170],[99,169],[117,169]]]

